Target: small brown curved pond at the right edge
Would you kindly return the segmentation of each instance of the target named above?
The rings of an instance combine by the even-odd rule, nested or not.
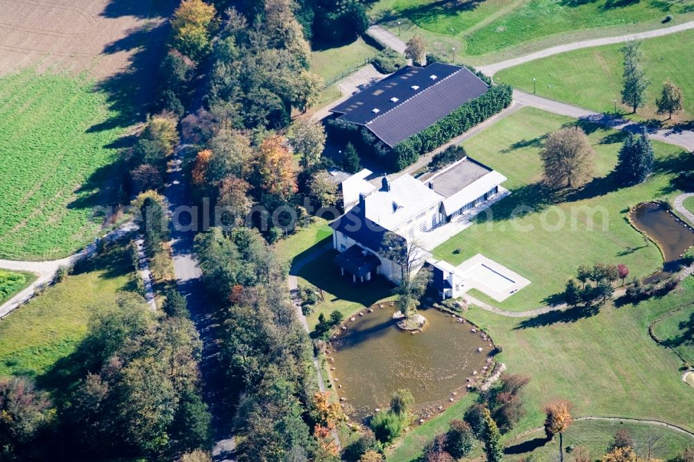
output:
[[[637,205],[630,216],[634,226],[658,244],[665,258],[663,271],[651,275],[645,282],[657,282],[677,272],[682,263],[682,254],[694,246],[694,231],[660,203]]]

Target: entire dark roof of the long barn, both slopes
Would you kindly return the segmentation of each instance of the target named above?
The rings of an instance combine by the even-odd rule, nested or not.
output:
[[[364,126],[393,147],[488,89],[469,69],[434,62],[403,67],[331,111],[341,114],[337,119]]]

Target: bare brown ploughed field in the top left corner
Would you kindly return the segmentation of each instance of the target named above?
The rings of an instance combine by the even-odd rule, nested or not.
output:
[[[175,0],[0,0],[0,75],[24,67],[88,71],[100,79],[126,70]]]

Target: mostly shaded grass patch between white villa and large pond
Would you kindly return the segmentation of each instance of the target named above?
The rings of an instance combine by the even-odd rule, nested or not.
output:
[[[307,316],[311,327],[318,323],[321,313],[327,317],[337,309],[344,316],[349,316],[375,302],[393,298],[393,284],[382,277],[375,277],[364,284],[353,284],[347,277],[342,277],[339,268],[332,262],[334,257],[335,251],[327,250],[311,259],[298,273],[300,286],[311,284],[324,293],[323,302],[319,302],[314,312]]]

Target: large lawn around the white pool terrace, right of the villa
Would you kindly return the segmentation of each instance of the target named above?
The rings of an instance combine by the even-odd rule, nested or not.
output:
[[[694,166],[694,158],[675,146],[654,142],[654,176],[634,187],[616,189],[609,179],[597,178],[586,187],[552,197],[539,185],[539,149],[549,132],[575,119],[534,108],[523,108],[468,139],[468,155],[509,178],[503,185],[511,196],[480,214],[468,229],[434,249],[434,256],[460,264],[482,253],[511,268],[531,284],[504,302],[475,292],[504,309],[523,311],[548,303],[575,277],[580,264],[624,263],[633,277],[657,271],[663,262],[653,243],[625,220],[630,205],[645,200],[670,200],[679,191],[670,185],[673,171]],[[584,124],[597,153],[595,174],[606,175],[616,164],[623,134]],[[526,211],[525,214],[518,212]],[[592,217],[592,220],[591,220]]]

